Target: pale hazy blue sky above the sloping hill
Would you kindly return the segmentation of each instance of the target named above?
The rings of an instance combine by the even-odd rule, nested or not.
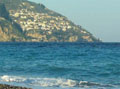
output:
[[[30,0],[42,3],[106,42],[120,42],[120,0]]]

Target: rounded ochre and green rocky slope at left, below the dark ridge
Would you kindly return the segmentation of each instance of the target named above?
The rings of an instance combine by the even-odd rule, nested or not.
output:
[[[0,17],[0,41],[24,41],[24,34],[15,24]]]

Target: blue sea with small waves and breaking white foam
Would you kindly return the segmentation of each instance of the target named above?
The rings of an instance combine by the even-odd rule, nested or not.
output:
[[[0,83],[120,89],[120,43],[0,43]]]

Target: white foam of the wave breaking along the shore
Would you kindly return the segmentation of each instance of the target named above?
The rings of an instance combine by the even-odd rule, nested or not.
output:
[[[90,87],[90,86],[111,87],[112,86],[112,85],[102,85],[87,81],[75,81],[75,80],[61,79],[61,78],[25,78],[25,77],[8,76],[8,75],[1,76],[0,80],[4,82],[26,83],[29,85],[37,85],[41,87]]]

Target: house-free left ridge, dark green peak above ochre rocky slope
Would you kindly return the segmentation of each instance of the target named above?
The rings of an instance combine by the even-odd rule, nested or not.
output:
[[[9,17],[5,5],[0,4],[0,41],[23,41],[24,34],[20,26]]]

